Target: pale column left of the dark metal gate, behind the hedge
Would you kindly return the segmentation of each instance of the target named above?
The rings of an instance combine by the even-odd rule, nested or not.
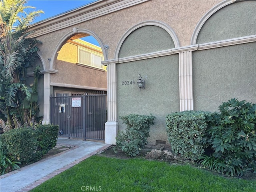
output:
[[[44,120],[42,124],[50,124],[50,73],[44,74]]]

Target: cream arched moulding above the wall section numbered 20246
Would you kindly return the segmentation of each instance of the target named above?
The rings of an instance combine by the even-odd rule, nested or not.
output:
[[[120,52],[120,49],[122,47],[122,44],[124,43],[124,41],[126,40],[126,38],[132,33],[134,32],[136,29],[140,28],[140,27],[143,27],[143,26],[158,26],[160,28],[163,28],[166,32],[168,32],[168,34],[171,36],[173,42],[174,42],[174,46],[175,48],[178,48],[180,47],[180,43],[179,43],[179,40],[178,40],[178,37],[176,36],[174,30],[172,30],[172,28],[170,26],[168,26],[167,24],[164,24],[163,22],[159,22],[159,21],[144,21],[144,22],[141,22],[139,24],[136,24],[135,26],[133,26],[132,28],[130,28],[129,30],[127,30],[124,35],[122,36],[122,38],[120,39],[120,41],[118,42],[117,44],[117,47],[116,47],[116,51],[115,51],[115,54],[114,54],[114,58],[117,59],[118,58],[118,55],[119,55],[119,52]]]

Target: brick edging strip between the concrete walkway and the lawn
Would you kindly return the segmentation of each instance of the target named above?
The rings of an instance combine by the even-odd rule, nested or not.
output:
[[[64,145],[64,146],[68,146],[68,145],[66,145],[66,144],[63,144],[63,145]],[[73,145],[73,146],[74,146],[74,145]],[[43,182],[47,181],[48,179],[53,178],[54,176],[60,174],[61,172],[63,172],[63,171],[65,171],[65,170],[67,170],[67,169],[73,167],[74,165],[76,165],[76,164],[82,162],[83,160],[87,159],[88,157],[93,156],[93,155],[95,155],[95,154],[100,154],[100,153],[104,152],[104,151],[107,150],[110,146],[112,146],[112,145],[111,145],[111,144],[107,144],[106,146],[103,146],[103,147],[99,148],[98,150],[96,150],[96,151],[94,151],[94,152],[92,152],[92,153],[90,153],[90,154],[87,154],[87,155],[85,155],[85,156],[83,156],[83,157],[81,157],[81,158],[79,158],[79,159],[77,159],[77,160],[71,162],[70,164],[67,164],[67,165],[64,166],[64,167],[62,167],[62,168],[60,168],[60,169],[58,169],[58,170],[55,170],[54,172],[52,172],[52,173],[50,173],[50,174],[48,174],[48,175],[42,177],[41,179],[39,179],[39,180],[37,180],[37,181],[35,181],[35,182],[33,182],[33,183],[27,185],[26,187],[24,187],[24,188],[22,188],[22,189],[20,189],[20,190],[17,190],[16,192],[26,192],[26,191],[30,191],[31,189],[33,189],[33,188],[35,188],[36,186],[42,184]],[[79,146],[75,146],[75,147],[78,148]],[[71,148],[71,149],[73,149],[73,148]],[[69,150],[70,150],[70,149],[69,149]],[[66,150],[66,151],[68,151],[68,150]],[[66,152],[66,151],[64,151],[64,152]],[[62,153],[62,152],[61,152],[61,153]]]

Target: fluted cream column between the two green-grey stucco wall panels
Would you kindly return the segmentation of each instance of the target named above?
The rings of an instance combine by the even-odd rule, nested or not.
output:
[[[193,110],[192,51],[179,53],[180,111]]]

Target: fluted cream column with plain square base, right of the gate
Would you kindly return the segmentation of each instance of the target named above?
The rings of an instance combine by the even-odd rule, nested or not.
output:
[[[108,64],[108,121],[105,124],[105,143],[116,144],[118,121],[116,111],[116,64]]]

